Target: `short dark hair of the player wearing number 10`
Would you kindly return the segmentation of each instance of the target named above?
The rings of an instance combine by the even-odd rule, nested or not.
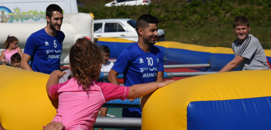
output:
[[[147,28],[149,26],[149,23],[158,24],[159,20],[150,14],[142,14],[136,21],[136,32],[138,32],[139,28]]]

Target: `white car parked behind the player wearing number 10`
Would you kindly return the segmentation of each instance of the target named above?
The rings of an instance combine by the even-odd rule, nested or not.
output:
[[[94,20],[94,38],[114,37],[138,41],[136,21],[132,19],[100,19]],[[158,29],[156,41],[164,41],[165,32]]]

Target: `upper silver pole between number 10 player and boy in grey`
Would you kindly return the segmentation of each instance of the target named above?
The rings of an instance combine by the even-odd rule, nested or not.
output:
[[[210,68],[211,64],[177,64],[177,65],[164,65],[164,69],[179,69],[179,68]]]

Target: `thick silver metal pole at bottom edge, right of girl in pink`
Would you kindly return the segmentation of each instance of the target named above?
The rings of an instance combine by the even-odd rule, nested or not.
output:
[[[97,117],[93,128],[140,129],[141,118],[132,117]]]

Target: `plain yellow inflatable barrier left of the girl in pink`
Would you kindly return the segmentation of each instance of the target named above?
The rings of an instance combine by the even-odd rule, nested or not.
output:
[[[0,122],[9,130],[42,129],[56,114],[47,93],[48,74],[0,65]]]

